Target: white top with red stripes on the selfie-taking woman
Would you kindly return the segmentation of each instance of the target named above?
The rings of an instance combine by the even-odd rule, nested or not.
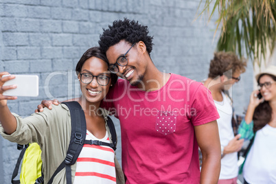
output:
[[[99,140],[111,143],[108,133],[102,139],[97,139],[87,130],[87,140]],[[77,159],[74,183],[116,183],[115,152],[108,146],[84,144]]]

